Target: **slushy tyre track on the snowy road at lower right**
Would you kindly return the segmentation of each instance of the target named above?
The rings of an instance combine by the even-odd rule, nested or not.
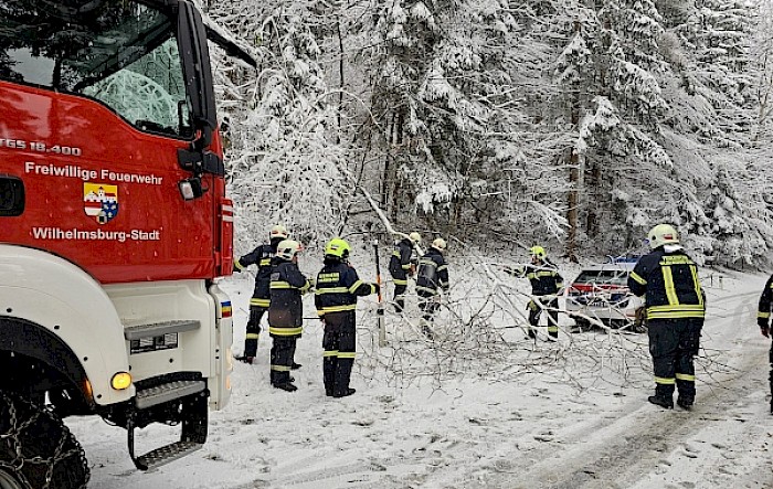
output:
[[[699,393],[692,412],[664,411],[637,403],[638,408],[623,414],[603,426],[600,421],[551,444],[542,453],[551,453],[543,461],[517,477],[489,479],[487,487],[610,489],[628,488],[656,470],[660,461],[679,448],[691,435],[712,422],[727,419],[728,412],[744,404],[746,392],[758,390],[767,374],[765,349],[745,351],[742,364],[733,375],[723,375],[726,389]],[[741,398],[741,402],[739,402]],[[739,423],[746,419],[738,419]],[[589,434],[592,440],[584,442]],[[566,446],[568,449],[562,447]],[[509,472],[512,470],[508,470]],[[490,486],[489,486],[490,485]]]

